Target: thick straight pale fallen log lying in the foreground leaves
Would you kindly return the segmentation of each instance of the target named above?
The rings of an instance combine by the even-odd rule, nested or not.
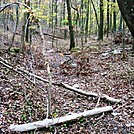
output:
[[[69,121],[76,120],[81,117],[87,117],[91,115],[100,114],[103,112],[113,111],[112,106],[106,106],[101,108],[95,108],[92,110],[84,111],[82,113],[72,113],[70,115],[66,115],[63,117],[53,118],[53,119],[44,119],[42,121],[36,121],[28,124],[21,124],[21,125],[14,125],[11,124],[9,129],[11,131],[17,131],[17,132],[25,132],[25,131],[31,131],[31,130],[37,130],[40,128],[48,128],[52,125],[58,125],[61,123],[66,123]]]

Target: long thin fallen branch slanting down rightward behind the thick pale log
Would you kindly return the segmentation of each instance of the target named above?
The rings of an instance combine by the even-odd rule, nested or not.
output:
[[[46,80],[46,79],[44,79],[44,78],[42,78],[42,77],[40,77],[40,76],[37,76],[37,75],[35,75],[35,74],[32,74],[32,73],[30,73],[30,72],[28,72],[28,71],[26,71],[26,70],[21,69],[21,68],[17,68],[17,67],[14,68],[14,67],[12,67],[11,65],[9,65],[9,63],[7,63],[7,62],[6,62],[3,58],[1,58],[1,57],[0,57],[0,64],[4,65],[5,67],[7,67],[7,68],[9,68],[9,69],[11,69],[11,70],[13,70],[13,71],[19,73],[19,74],[20,74],[20,72],[23,72],[23,73],[25,73],[25,74],[27,74],[27,75],[29,75],[29,76],[33,76],[34,78],[36,78],[36,79],[38,79],[38,80],[40,80],[40,81],[43,81],[43,82],[45,82],[45,83],[49,83],[48,80]],[[72,87],[72,86],[70,86],[70,85],[68,85],[68,84],[62,83],[62,82],[61,82],[61,83],[56,83],[56,82],[52,81],[52,85],[56,85],[56,86],[59,86],[59,87],[63,87],[63,88],[68,89],[68,90],[70,90],[70,91],[77,92],[77,93],[79,93],[79,94],[81,94],[81,95],[92,96],[92,97],[100,97],[100,99],[106,99],[106,100],[108,100],[108,101],[110,101],[110,102],[113,102],[113,103],[119,103],[119,102],[122,101],[121,99],[115,99],[115,98],[109,97],[109,96],[106,95],[106,94],[100,94],[100,95],[98,95],[97,93],[83,91],[83,90],[81,90],[81,89],[74,88],[74,87]]]

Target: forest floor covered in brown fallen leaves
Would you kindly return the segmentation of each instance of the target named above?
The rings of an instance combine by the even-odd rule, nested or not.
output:
[[[10,39],[2,35],[3,47]],[[56,42],[56,40],[55,40]],[[17,41],[15,42],[17,46]],[[19,44],[19,43],[18,43]],[[48,80],[46,61],[50,64],[52,80],[64,82],[84,91],[106,94],[122,99],[121,103],[87,97],[62,87],[52,86],[52,118],[80,113],[95,107],[112,106],[114,111],[77,119],[48,129],[30,132],[40,134],[133,134],[134,133],[134,57],[126,50],[122,58],[121,45],[104,39],[100,43],[90,38],[84,49],[69,52],[68,40],[57,40],[54,46],[34,38],[25,55],[0,50],[0,57],[14,68],[22,68]],[[111,48],[112,46],[112,48]],[[126,47],[130,48],[131,45]],[[28,80],[29,79],[29,80]],[[31,82],[32,81],[32,82]],[[35,82],[35,85],[33,84]],[[0,133],[9,134],[10,124],[22,124],[46,118],[47,83],[32,76],[18,74],[0,64]],[[28,132],[27,132],[28,133]]]

